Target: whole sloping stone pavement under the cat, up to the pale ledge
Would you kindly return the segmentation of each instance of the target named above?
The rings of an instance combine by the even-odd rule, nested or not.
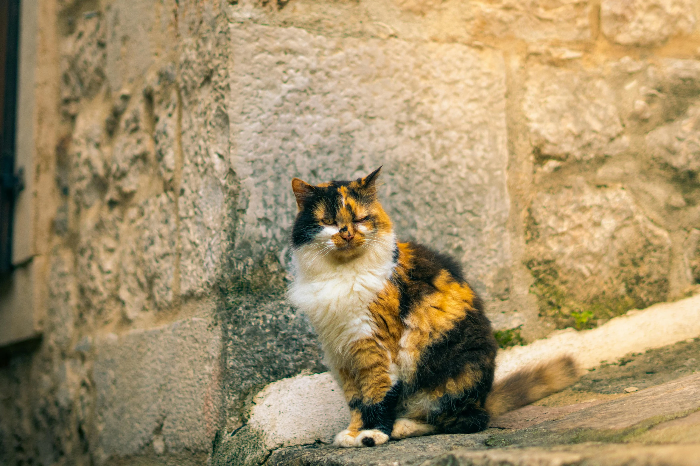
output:
[[[697,466],[700,339],[591,370],[573,387],[505,414],[479,434],[372,449],[293,447],[274,451],[266,465]]]

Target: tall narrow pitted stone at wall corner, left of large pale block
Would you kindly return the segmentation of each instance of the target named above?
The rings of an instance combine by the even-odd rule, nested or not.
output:
[[[207,27],[183,40],[178,65],[183,105],[178,199],[183,296],[201,296],[225,275],[238,207],[238,173],[229,153],[230,25],[209,20]],[[220,46],[212,47],[215,42]]]

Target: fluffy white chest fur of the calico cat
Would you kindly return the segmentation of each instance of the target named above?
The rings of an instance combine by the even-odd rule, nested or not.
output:
[[[352,342],[371,337],[369,307],[394,268],[395,238],[374,243],[363,256],[347,263],[318,258],[313,248],[293,256],[294,280],[289,302],[309,316],[323,345],[325,363],[337,370]]]

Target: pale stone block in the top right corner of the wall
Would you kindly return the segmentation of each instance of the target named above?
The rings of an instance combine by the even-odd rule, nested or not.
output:
[[[601,30],[622,45],[654,45],[695,27],[693,0],[603,0]]]

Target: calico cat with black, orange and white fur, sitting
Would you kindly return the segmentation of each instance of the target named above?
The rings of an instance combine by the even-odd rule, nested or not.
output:
[[[482,301],[454,259],[398,242],[374,170],[354,181],[292,180],[288,300],[313,324],[351,421],[336,446],[484,430],[489,419],[561,390],[571,358],[493,385],[496,350]]]

